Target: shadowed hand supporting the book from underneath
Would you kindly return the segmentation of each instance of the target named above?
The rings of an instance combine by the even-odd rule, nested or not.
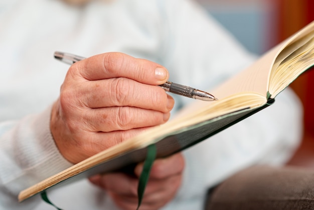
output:
[[[124,173],[95,175],[89,180],[105,189],[113,201],[122,209],[136,209],[138,177],[143,164],[138,164],[136,177]],[[159,209],[176,195],[182,181],[184,158],[177,153],[165,159],[158,159],[152,165],[148,183],[139,209]]]

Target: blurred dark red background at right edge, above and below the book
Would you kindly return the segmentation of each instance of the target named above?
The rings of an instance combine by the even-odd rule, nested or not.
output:
[[[313,0],[278,1],[278,42],[314,20]],[[314,166],[314,68],[298,77],[291,85],[304,109],[304,138],[290,160],[290,165]]]

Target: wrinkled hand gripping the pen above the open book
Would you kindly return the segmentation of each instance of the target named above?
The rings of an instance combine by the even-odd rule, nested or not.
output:
[[[54,103],[50,129],[61,154],[78,163],[168,121],[174,99],[161,87],[168,71],[122,53],[73,64]]]

